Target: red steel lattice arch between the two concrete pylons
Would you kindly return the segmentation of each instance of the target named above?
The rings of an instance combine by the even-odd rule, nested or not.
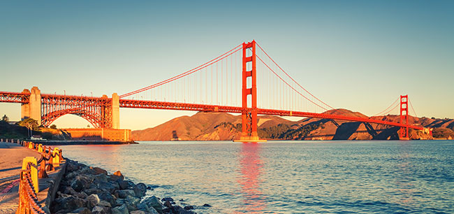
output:
[[[46,115],[41,116],[41,122],[44,127],[48,127],[48,126],[50,126],[50,124],[52,124],[52,122],[57,120],[59,117],[61,117],[63,115],[68,115],[68,114],[77,115],[79,117],[84,118],[95,128],[102,127],[103,120],[100,119],[100,118],[102,118],[101,115],[90,112],[85,109],[81,109],[81,108],[70,108],[70,109],[57,110],[57,111],[53,111],[51,113],[47,113]]]

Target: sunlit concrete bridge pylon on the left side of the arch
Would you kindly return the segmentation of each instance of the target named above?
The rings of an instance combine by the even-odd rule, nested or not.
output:
[[[41,90],[34,86],[31,91],[24,89],[22,92],[30,92],[30,97],[29,103],[21,106],[21,120],[31,118],[38,122],[38,126],[41,125]]]

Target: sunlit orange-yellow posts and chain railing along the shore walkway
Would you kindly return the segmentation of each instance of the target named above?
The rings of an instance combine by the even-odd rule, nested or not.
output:
[[[0,142],[17,143],[41,155],[37,161],[35,157],[24,157],[22,171],[20,171],[19,204],[16,214],[37,213],[45,214],[41,204],[38,203],[37,193],[38,178],[47,178],[46,171],[53,171],[64,160],[62,150],[59,148],[46,147],[45,145],[31,141],[20,141],[1,138]],[[39,167],[38,167],[39,165]]]

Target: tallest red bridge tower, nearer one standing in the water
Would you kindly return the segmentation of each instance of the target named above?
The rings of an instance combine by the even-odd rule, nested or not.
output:
[[[249,50],[249,51],[248,51]],[[249,52],[251,55],[248,56]],[[240,141],[263,141],[257,134],[256,41],[243,43],[242,60],[242,133]],[[249,84],[248,84],[249,81]],[[251,95],[248,103],[248,96]]]

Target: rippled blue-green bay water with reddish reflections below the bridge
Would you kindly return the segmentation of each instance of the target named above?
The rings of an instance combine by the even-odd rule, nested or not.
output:
[[[454,213],[454,141],[61,148],[66,157],[153,185],[148,195],[173,197],[197,213]]]

